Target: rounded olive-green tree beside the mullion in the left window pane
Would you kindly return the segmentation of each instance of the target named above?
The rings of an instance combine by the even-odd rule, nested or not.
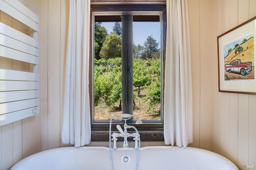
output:
[[[100,51],[100,58],[111,59],[122,57],[122,39],[116,33],[108,35]]]

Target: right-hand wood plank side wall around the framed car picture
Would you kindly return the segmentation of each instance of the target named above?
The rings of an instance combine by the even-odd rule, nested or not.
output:
[[[256,95],[218,92],[217,36],[256,16],[255,0],[212,0],[211,150],[232,160],[240,170],[256,169]],[[203,56],[202,56],[203,57]],[[253,168],[245,164],[252,163]]]

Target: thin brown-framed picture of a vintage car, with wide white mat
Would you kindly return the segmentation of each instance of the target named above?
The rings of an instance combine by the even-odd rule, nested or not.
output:
[[[219,92],[256,95],[256,17],[217,37]]]

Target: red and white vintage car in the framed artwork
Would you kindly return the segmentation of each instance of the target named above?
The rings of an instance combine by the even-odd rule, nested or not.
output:
[[[242,76],[249,74],[252,71],[252,63],[241,63],[241,60],[234,60],[230,64],[225,64],[225,69],[228,72],[239,72]]]

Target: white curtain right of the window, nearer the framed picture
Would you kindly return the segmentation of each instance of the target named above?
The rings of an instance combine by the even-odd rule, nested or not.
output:
[[[193,142],[192,79],[186,0],[167,0],[164,84],[164,143]]]

